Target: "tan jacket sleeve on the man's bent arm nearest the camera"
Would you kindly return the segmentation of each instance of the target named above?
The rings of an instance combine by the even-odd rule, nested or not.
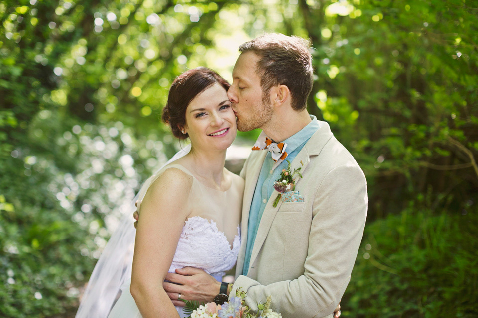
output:
[[[356,163],[349,161],[332,169],[314,197],[304,273],[294,280],[267,286],[240,275],[232,292],[239,287],[245,291],[245,302],[254,311],[258,302],[271,296],[271,308],[284,318],[330,315],[350,281],[367,203],[365,176]]]

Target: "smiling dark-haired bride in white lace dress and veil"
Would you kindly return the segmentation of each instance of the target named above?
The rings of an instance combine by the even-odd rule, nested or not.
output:
[[[220,285],[236,263],[244,180],[224,167],[237,132],[228,88],[204,67],[174,80],[163,120],[176,137],[190,138],[190,151],[178,153],[145,182],[138,194],[132,269],[123,246],[127,235],[121,233],[133,228],[126,221],[95,266],[76,318],[186,317],[170,300],[184,297],[168,296],[162,287],[167,273],[197,267]]]

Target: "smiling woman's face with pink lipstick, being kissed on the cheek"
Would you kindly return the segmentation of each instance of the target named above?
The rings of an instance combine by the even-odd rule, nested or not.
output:
[[[197,95],[186,108],[185,132],[196,148],[225,150],[236,138],[236,116],[218,83]]]

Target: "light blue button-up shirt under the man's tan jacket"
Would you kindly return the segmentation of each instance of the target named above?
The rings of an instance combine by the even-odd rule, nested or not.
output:
[[[279,178],[282,169],[287,168],[286,160],[292,162],[292,160],[301,151],[310,137],[312,137],[312,135],[320,128],[320,122],[317,120],[317,118],[313,115],[310,117],[312,121],[307,126],[302,128],[298,133],[284,140],[284,143],[287,144],[285,151],[288,155],[287,158],[279,164],[279,166],[272,170],[272,166],[274,165],[275,161],[272,159],[270,153],[265,156],[249,210],[249,222],[246,240],[247,245],[245,248],[244,267],[242,268],[243,275],[247,275],[247,271],[249,269],[252,246],[254,246],[257,228],[259,227],[260,218],[262,217],[262,213],[264,213],[267,201],[274,190],[272,187],[274,181]]]

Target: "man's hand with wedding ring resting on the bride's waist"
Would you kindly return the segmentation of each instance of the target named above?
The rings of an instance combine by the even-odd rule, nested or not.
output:
[[[178,301],[179,294],[184,300],[212,302],[221,288],[221,282],[202,269],[194,267],[176,269],[176,274],[168,273],[166,280],[163,282],[163,288],[175,306],[185,305],[184,302]]]

